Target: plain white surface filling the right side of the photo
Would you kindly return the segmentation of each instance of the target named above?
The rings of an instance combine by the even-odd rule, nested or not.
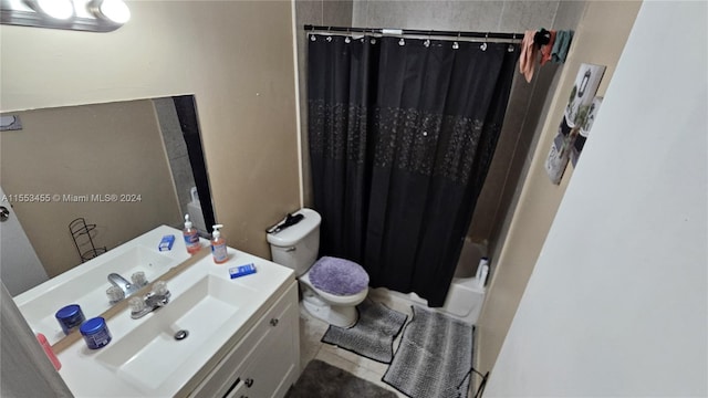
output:
[[[642,6],[486,397],[708,395],[707,11]]]

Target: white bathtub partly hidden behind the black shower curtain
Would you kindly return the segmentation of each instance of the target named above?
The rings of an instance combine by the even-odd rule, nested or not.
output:
[[[469,238],[465,240],[445,304],[438,311],[472,325],[477,323],[485,302],[485,289],[478,286],[475,274],[479,259],[486,255],[487,245],[485,243],[475,243]],[[384,302],[388,306],[407,306],[413,303],[427,305],[427,301],[415,293],[404,294],[386,287],[372,289],[369,295],[375,301]],[[394,303],[395,305],[393,305]]]

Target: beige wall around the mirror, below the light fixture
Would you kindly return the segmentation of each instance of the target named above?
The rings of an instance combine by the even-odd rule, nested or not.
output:
[[[111,33],[0,27],[2,111],[195,94],[227,242],[270,256],[263,230],[300,205],[291,3],[128,6]]]

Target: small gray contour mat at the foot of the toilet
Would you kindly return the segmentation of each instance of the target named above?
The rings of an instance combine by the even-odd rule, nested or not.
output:
[[[365,300],[356,306],[358,321],[352,327],[330,326],[322,337],[329,343],[369,359],[391,364],[394,339],[406,324],[407,315],[381,303]]]

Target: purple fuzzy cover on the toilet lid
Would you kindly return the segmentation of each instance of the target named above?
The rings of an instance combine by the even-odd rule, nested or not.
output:
[[[353,295],[368,286],[368,274],[353,261],[323,256],[312,265],[310,282],[330,294]]]

